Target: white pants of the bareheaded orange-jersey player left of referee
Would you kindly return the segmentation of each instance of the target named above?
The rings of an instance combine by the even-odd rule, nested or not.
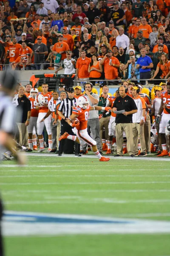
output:
[[[44,122],[40,121],[44,118],[46,113],[39,113],[38,114],[38,119],[37,119],[37,133],[38,135],[42,135],[43,130],[44,130],[44,125],[47,130],[48,135],[51,135],[51,115],[49,115],[47,118],[45,118]]]

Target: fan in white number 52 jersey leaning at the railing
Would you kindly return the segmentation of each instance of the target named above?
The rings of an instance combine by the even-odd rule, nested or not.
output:
[[[64,59],[62,66],[59,67],[55,73],[57,74],[59,70],[64,69],[65,75],[75,74],[76,73],[75,67],[76,67],[76,60],[74,60],[74,58],[71,58],[71,51],[67,51],[66,58]]]

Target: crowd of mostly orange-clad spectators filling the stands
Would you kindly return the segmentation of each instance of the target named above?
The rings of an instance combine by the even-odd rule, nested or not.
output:
[[[170,76],[169,0],[16,0],[12,8],[9,1],[0,4],[1,70],[4,64],[17,70],[57,70],[70,50],[79,72],[80,59],[86,59],[77,79]]]

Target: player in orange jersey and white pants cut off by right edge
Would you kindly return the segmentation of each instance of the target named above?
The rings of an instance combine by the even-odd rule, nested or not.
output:
[[[170,152],[168,153],[167,151],[167,144],[166,144],[166,138],[165,138],[165,127],[170,120],[170,83],[167,84],[167,92],[162,94],[161,98],[162,98],[161,106],[159,108],[159,113],[156,117],[156,122],[159,123],[159,117],[163,112],[161,122],[159,124],[159,133],[161,135],[161,145],[162,145],[163,151],[157,157],[168,156],[168,154],[170,156]]]

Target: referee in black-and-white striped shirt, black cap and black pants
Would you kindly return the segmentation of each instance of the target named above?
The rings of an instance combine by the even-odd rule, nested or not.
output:
[[[69,116],[71,116],[72,114],[72,108],[77,106],[77,99],[74,98],[74,88],[69,87],[68,88],[68,98],[63,99],[62,102],[60,103],[60,106],[58,108],[58,114],[59,116],[62,118],[61,119],[61,132],[60,132],[60,136],[62,134],[64,134],[65,132],[68,132],[68,134],[71,135],[75,135],[72,131],[72,127],[70,125],[68,125],[67,122],[65,122]],[[74,143],[73,144],[69,144],[69,147],[65,146],[65,143],[67,143],[68,140],[61,140],[59,142],[59,153],[58,156],[62,156],[63,151],[68,151],[68,149],[70,150],[70,148],[72,148],[72,152],[74,150]],[[71,141],[72,142],[72,141]],[[70,141],[69,141],[70,143]],[[76,146],[76,154],[78,156],[78,148]]]

